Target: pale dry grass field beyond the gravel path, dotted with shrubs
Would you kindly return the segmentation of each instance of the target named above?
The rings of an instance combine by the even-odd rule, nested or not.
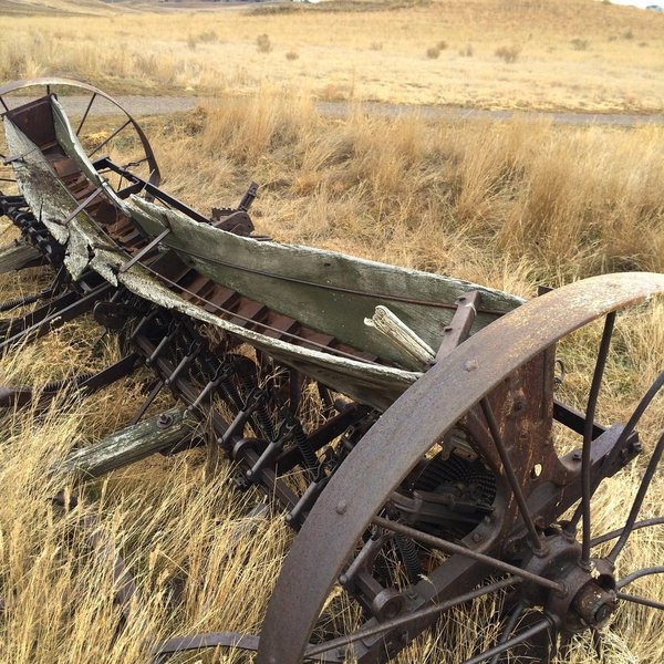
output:
[[[66,74],[110,91],[157,94],[252,92],[270,81],[320,98],[662,108],[664,17],[653,12],[593,0],[283,9],[148,13],[122,6],[110,15],[48,18],[0,10],[0,31],[9,35],[0,43],[0,80]],[[269,35],[269,49],[257,48],[260,34]]]

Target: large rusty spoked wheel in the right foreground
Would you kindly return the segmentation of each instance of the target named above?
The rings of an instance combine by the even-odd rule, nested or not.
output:
[[[594,540],[591,530],[592,496],[639,454],[635,426],[664,383],[661,375],[625,426],[594,422],[615,311],[662,292],[661,274],[577,282],[439,360],[369,430],[317,501],[277,582],[257,662],[385,662],[444,611],[491,595],[504,606],[499,636],[467,664],[507,655],[549,662],[572,635],[596,634],[621,602],[663,609],[623,588],[664,568],[621,570],[619,579],[615,562],[635,529],[664,521],[637,521],[664,436],[625,526]],[[580,414],[553,400],[554,345],[601,317]],[[559,456],[553,422],[578,435],[580,448]],[[611,537],[610,552],[594,554]],[[384,573],[390,548],[415,572],[409,581]],[[321,623],[336,582],[359,601],[364,622],[329,639]]]

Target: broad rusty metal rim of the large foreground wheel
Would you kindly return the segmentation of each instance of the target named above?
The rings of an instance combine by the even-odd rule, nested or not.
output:
[[[433,442],[442,439],[455,423],[495,390],[505,377],[532,361],[544,349],[551,347],[560,338],[601,315],[611,314],[618,309],[663,291],[664,276],[647,273],[613,274],[570,284],[533,300],[492,323],[429,370],[395,402],[357,444],[309,515],[287,557],[270,601],[257,662],[289,664],[301,661],[328,592],[343,571],[356,542],[361,540],[370,522],[375,521],[392,491],[406,478]],[[598,366],[601,364],[602,361]],[[595,374],[601,378],[601,373],[600,367]],[[458,380],[446,381],[446,376],[455,376]],[[490,409],[490,403],[488,405]],[[483,406],[486,415],[486,404],[483,403]],[[591,405],[589,411],[592,409]],[[407,445],[404,444],[406,440]],[[657,446],[660,447],[661,445]],[[590,444],[584,444],[583,448],[585,466]],[[653,459],[656,456],[653,455]],[[653,467],[656,467],[656,460],[658,459],[652,463]],[[367,468],[373,471],[372,481],[366,480]],[[519,471],[522,473],[523,469],[525,466],[519,467]],[[580,480],[580,484],[582,489],[585,487],[588,494],[588,481]],[[592,492],[590,490],[590,496]],[[589,499],[583,502],[585,509]],[[507,510],[507,513],[508,520],[513,520],[519,513],[518,506],[513,507],[513,500],[511,511]],[[384,521],[381,521],[381,525],[385,526]],[[494,537],[497,537],[501,531],[494,529],[492,532]],[[541,532],[540,528],[538,532]],[[560,533],[557,537],[563,536],[564,533]],[[491,550],[491,541],[489,538],[483,542],[484,550]],[[585,533],[582,541],[584,552],[581,558],[589,558],[587,550],[590,543],[590,536]],[[443,567],[447,568],[448,577],[452,575],[450,572],[455,572],[455,582],[446,588],[446,591],[463,595],[476,587],[488,573],[487,568],[483,567],[486,562],[470,560],[467,554],[450,559]],[[587,564],[589,560],[585,560]],[[531,568],[538,570],[533,572],[536,575],[540,572],[549,573],[538,566]],[[601,575],[612,579],[605,570]],[[307,583],[301,582],[301,579],[305,579]],[[579,574],[578,588],[573,589],[570,602],[577,600],[583,604],[585,594],[579,593],[590,579],[590,571],[585,577]],[[610,585],[611,582],[606,583]],[[605,618],[604,614],[611,612],[610,604],[613,600],[610,593],[615,593],[610,587],[602,590],[609,593],[609,596],[603,598],[595,608],[598,624]],[[552,592],[552,589],[549,591]],[[590,614],[585,613],[585,618],[588,615]],[[542,619],[538,629],[540,632],[551,629],[558,631],[569,629],[569,625],[551,626],[550,619],[547,618],[546,624]],[[520,634],[519,637],[522,636],[523,634]],[[504,646],[508,645],[510,640],[513,641],[512,637],[508,637]],[[307,651],[309,654],[313,652],[311,649]],[[320,652],[320,647],[317,652]],[[484,653],[480,658],[469,662],[480,662],[491,656],[494,654],[490,652]]]

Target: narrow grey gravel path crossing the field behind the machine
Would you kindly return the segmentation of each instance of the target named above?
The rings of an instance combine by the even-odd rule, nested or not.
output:
[[[13,107],[31,101],[32,97],[7,96],[8,106]],[[141,96],[123,95],[117,101],[134,116],[163,115],[178,111],[190,111],[196,107],[198,98],[194,96]],[[60,101],[68,113],[75,117],[81,116],[90,102],[89,96],[63,96]],[[349,114],[347,102],[317,102],[317,108],[322,115],[344,117]],[[413,112],[419,113],[425,118],[440,117],[444,120],[494,120],[508,121],[515,116],[526,120],[550,120],[556,124],[564,125],[612,125],[631,127],[644,124],[664,125],[664,115],[635,115],[623,113],[571,113],[571,112],[542,112],[542,111],[488,111],[484,108],[461,108],[457,106],[408,106],[405,104],[382,104],[365,102],[362,107],[366,113],[396,117]],[[113,115],[117,108],[110,102],[97,97],[94,102],[95,115]]]

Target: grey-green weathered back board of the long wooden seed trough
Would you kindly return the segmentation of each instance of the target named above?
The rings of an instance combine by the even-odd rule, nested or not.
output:
[[[134,218],[149,236],[170,228],[163,245],[178,251],[201,274],[406,369],[416,367],[364,324],[376,307],[387,307],[436,350],[459,295],[473,290],[481,293],[474,331],[522,303],[515,295],[450,277],[236,236],[136,197],[132,206]]]

